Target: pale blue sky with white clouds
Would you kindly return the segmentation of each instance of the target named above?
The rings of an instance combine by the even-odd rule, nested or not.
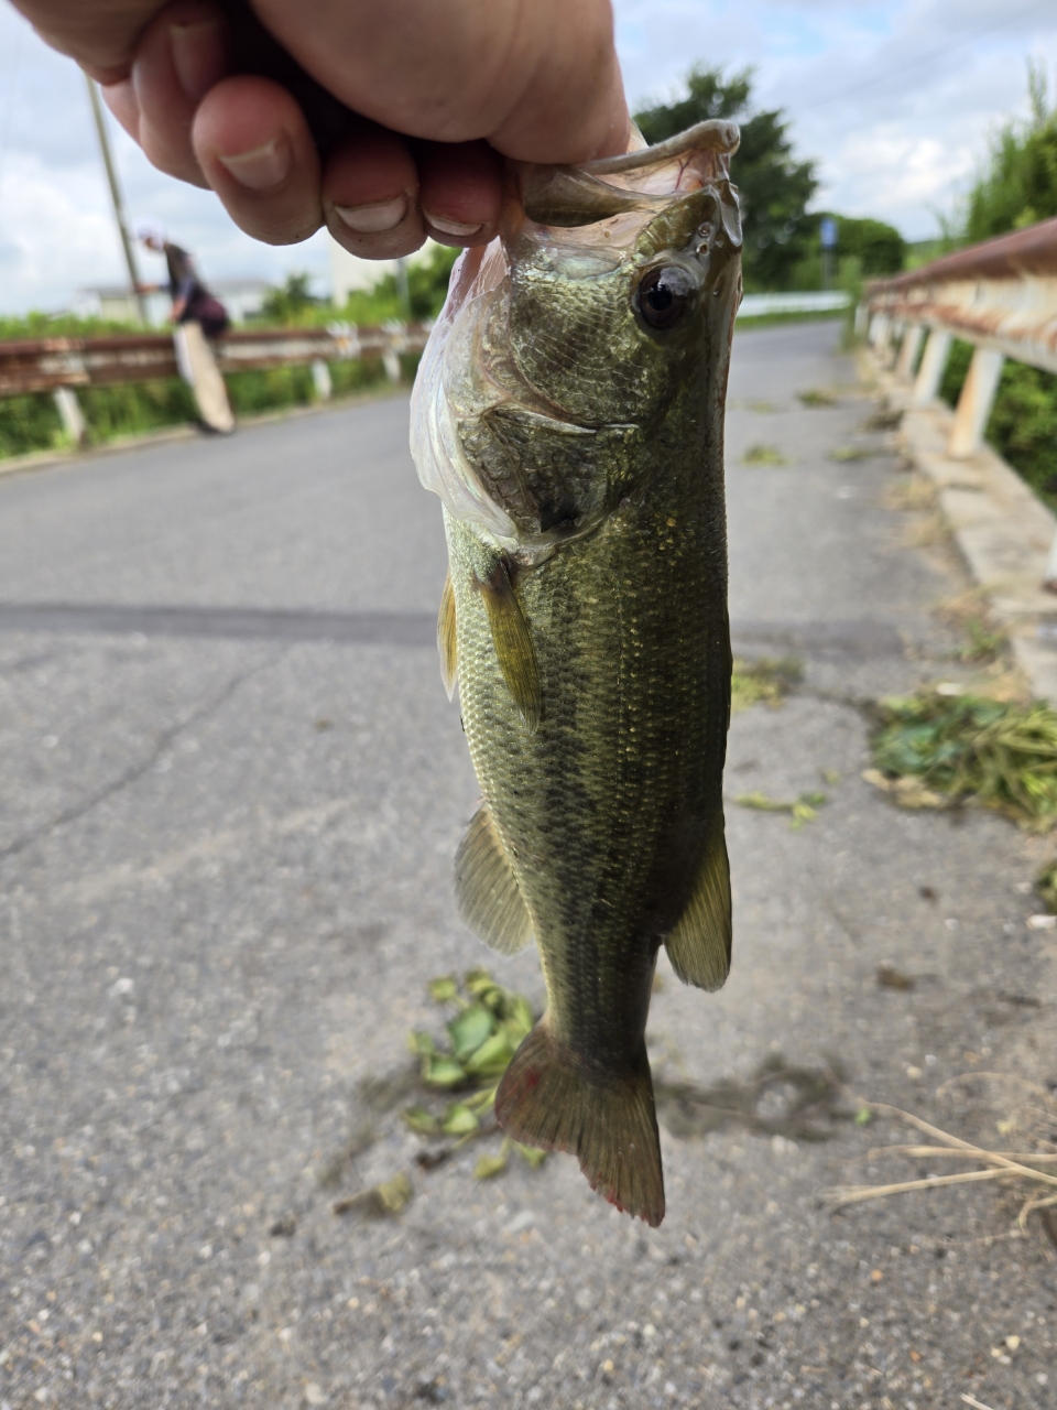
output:
[[[908,240],[956,210],[1009,116],[1026,116],[1026,62],[1057,100],[1054,0],[614,0],[631,106],[679,93],[692,63],[754,70],[754,103],[781,107],[817,164],[815,204],[891,221]],[[155,172],[111,123],[132,220],[152,217],[206,278],[328,282],[326,237],[271,248],[216,197]],[[149,255],[144,278],[161,278]],[[124,266],[85,82],[0,0],[0,313],[63,309]]]

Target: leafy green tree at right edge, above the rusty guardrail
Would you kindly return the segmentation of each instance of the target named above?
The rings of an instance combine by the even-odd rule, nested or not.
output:
[[[1027,65],[1027,93],[1032,116],[999,128],[968,193],[964,235],[972,244],[1057,216],[1057,106],[1041,65]]]

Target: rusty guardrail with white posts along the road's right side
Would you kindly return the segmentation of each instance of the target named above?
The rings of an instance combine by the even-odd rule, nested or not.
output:
[[[902,337],[895,374],[906,382],[913,378],[912,406],[934,399],[953,338],[975,344],[948,446],[956,458],[972,455],[1006,358],[1057,372],[1057,220],[878,279],[867,289],[861,313],[882,360],[891,360],[892,343]]]

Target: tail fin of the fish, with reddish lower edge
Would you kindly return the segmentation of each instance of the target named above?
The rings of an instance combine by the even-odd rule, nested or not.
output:
[[[524,1145],[569,1151],[610,1204],[654,1228],[664,1218],[661,1142],[650,1062],[609,1077],[578,1063],[537,1024],[496,1093],[500,1127]]]

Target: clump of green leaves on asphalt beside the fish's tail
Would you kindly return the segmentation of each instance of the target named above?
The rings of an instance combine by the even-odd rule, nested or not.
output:
[[[421,1080],[434,1101],[409,1107],[403,1120],[420,1136],[448,1138],[447,1144],[419,1158],[427,1169],[447,1160],[466,1142],[499,1131],[495,1118],[499,1079],[536,1022],[528,1000],[496,984],[483,969],[471,970],[461,986],[454,974],[431,980],[430,997],[437,1004],[454,1007],[455,1015],[447,1022],[440,1045],[420,1031],[409,1039],[412,1052],[421,1059]],[[435,1101],[440,1093],[455,1100],[441,1107]],[[514,1151],[533,1167],[547,1159],[545,1151],[505,1136],[497,1153],[478,1158],[474,1177],[488,1180],[499,1175]]]

